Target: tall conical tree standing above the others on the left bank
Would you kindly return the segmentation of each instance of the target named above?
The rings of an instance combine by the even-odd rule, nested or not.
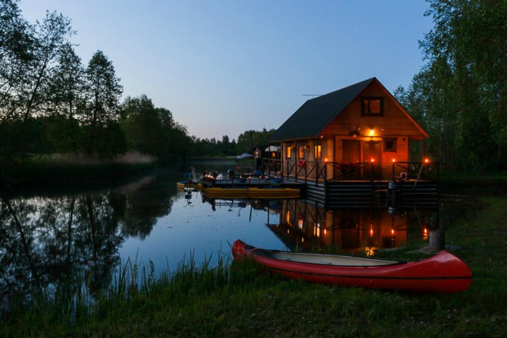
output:
[[[96,51],[86,69],[86,109],[83,122],[88,126],[88,153],[94,153],[97,129],[118,120],[119,100],[123,92],[113,62]]]

